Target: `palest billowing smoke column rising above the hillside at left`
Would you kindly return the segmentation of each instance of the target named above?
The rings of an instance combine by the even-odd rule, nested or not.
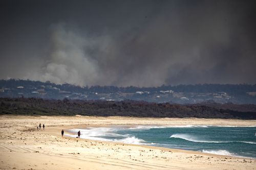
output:
[[[51,47],[44,64],[27,78],[76,85],[95,84],[99,77],[97,61],[86,51],[89,38],[66,30],[63,24],[55,25],[51,33]]]

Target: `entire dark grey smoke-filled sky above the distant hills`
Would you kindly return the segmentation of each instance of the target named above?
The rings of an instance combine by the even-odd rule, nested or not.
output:
[[[0,79],[256,83],[256,1],[0,1]]]

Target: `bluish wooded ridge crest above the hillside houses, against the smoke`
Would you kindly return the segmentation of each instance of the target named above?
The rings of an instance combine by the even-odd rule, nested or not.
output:
[[[72,92],[98,92],[98,93],[134,93],[136,91],[149,91],[149,92],[159,92],[165,90],[173,90],[175,92],[196,92],[196,93],[215,93],[220,91],[225,91],[231,95],[246,95],[246,92],[256,91],[256,84],[196,84],[196,85],[162,85],[159,87],[117,87],[117,86],[76,86],[72,84],[54,84],[49,81],[31,81],[31,80],[0,80],[0,88],[16,88],[17,86],[25,87],[38,87],[38,86],[53,86],[60,90],[72,91]]]

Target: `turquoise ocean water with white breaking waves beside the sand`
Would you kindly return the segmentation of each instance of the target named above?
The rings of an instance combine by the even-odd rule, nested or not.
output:
[[[256,158],[256,126],[112,126],[70,129],[69,132],[77,134],[79,130],[84,139]]]

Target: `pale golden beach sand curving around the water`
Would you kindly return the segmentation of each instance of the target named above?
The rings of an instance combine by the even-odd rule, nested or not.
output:
[[[36,130],[39,123],[45,130]],[[89,116],[0,116],[0,169],[256,169],[256,159],[61,137],[109,125],[256,125],[256,120]]]

